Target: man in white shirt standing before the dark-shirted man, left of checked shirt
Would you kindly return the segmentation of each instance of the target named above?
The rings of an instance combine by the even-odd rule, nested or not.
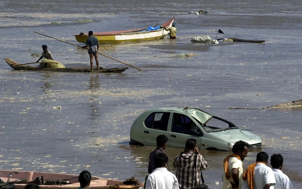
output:
[[[148,176],[145,183],[146,189],[179,189],[176,176],[167,170],[167,155],[157,153],[154,157],[154,164],[156,169]]]

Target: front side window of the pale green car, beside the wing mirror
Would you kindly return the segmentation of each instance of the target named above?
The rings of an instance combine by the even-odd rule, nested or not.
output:
[[[179,113],[173,114],[171,131],[188,135],[201,135],[201,130],[197,125],[188,116]]]

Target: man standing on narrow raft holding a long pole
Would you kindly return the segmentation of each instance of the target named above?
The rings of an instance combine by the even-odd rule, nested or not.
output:
[[[93,36],[93,32],[89,31],[88,32],[89,37],[86,40],[86,45],[82,46],[82,48],[86,48],[89,46],[88,54],[90,57],[90,66],[91,70],[93,70],[93,56],[95,57],[95,62],[96,62],[96,68],[98,69],[98,48],[99,48],[99,43],[98,39]]]

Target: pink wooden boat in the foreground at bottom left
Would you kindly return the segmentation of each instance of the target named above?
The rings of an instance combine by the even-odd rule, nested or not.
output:
[[[41,189],[76,189],[80,187],[79,175],[46,173],[34,171],[10,171],[0,170],[0,178],[3,181],[15,184],[15,189],[24,189],[26,184],[38,184]],[[93,176],[90,182],[90,189],[111,189],[111,188],[133,188],[138,189],[144,184],[137,179],[126,179],[127,181],[117,181]]]

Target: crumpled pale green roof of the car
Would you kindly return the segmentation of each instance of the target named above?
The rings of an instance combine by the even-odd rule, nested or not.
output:
[[[181,113],[189,114],[190,116],[194,117],[199,122],[201,122],[202,124],[204,124],[205,122],[207,122],[209,119],[211,119],[213,117],[212,114],[207,113],[207,112],[205,112],[203,110],[200,110],[198,108],[162,107],[162,108],[156,108],[156,109],[153,109],[153,110],[172,110],[172,111],[175,111],[175,112],[181,112]]]

